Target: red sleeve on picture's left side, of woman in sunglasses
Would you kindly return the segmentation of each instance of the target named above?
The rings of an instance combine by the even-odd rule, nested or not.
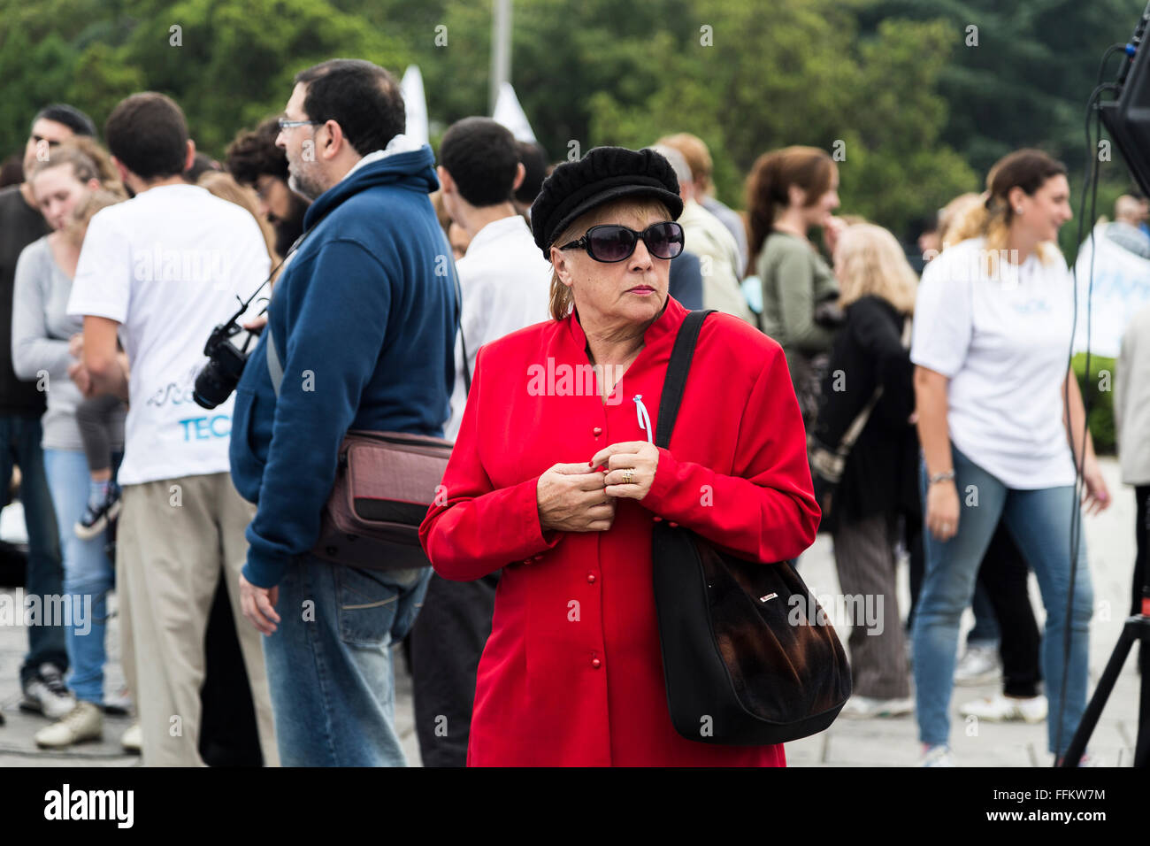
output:
[[[478,440],[484,410],[483,352],[481,348],[476,357],[475,379],[443,474],[442,493],[420,525],[420,542],[431,566],[453,581],[473,581],[530,559],[561,538],[558,532],[544,535],[539,526],[538,475],[497,490],[483,468]]]

